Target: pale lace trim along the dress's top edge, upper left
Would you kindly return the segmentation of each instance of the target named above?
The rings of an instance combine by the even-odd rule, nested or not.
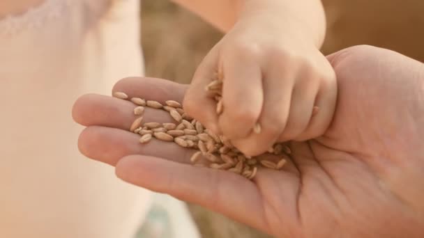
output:
[[[0,0],[1,1],[1,0]],[[0,19],[0,36],[12,36],[26,29],[39,29],[46,22],[59,18],[77,0],[45,0],[41,5],[29,8],[20,15],[8,15]]]

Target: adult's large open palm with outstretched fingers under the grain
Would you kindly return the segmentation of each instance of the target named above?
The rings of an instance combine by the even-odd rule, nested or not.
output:
[[[79,149],[116,166],[123,180],[197,203],[275,237],[424,237],[424,66],[393,51],[351,47],[328,56],[338,105],[324,136],[292,142],[283,170],[254,180],[190,165],[192,150],[128,132],[131,102],[84,95]],[[114,91],[181,102],[187,86],[151,78]],[[146,109],[144,121],[171,122]]]

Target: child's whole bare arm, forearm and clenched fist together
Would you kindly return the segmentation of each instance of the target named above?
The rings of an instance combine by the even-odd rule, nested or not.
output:
[[[326,31],[320,0],[174,1],[225,32],[197,67],[183,100],[186,113],[248,155],[275,141],[324,133],[337,87],[319,51]],[[204,93],[217,74],[224,78],[219,117]],[[319,113],[312,115],[314,106]],[[257,123],[259,134],[252,130]]]

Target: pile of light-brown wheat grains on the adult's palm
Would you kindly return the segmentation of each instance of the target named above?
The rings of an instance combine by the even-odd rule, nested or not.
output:
[[[220,115],[223,111],[222,106],[222,80],[216,79],[206,86],[206,91],[210,97],[217,102],[217,113]],[[144,100],[140,97],[129,98],[126,93],[116,92],[114,97],[121,100],[130,100],[135,104],[134,114],[139,116],[130,127],[130,132],[139,134],[140,143],[148,143],[152,138],[160,141],[168,141],[178,144],[183,148],[198,150],[190,161],[195,166],[208,166],[209,168],[228,170],[238,173],[243,177],[252,179],[257,174],[257,166],[266,168],[281,169],[291,151],[283,143],[275,143],[268,153],[278,155],[278,162],[260,159],[257,157],[248,157],[232,145],[225,136],[216,135],[209,129],[206,129],[200,122],[188,116],[184,112],[179,102],[174,100],[166,101],[166,105],[160,102]],[[144,107],[160,109],[169,112],[169,115],[176,121],[175,123],[146,122],[143,123]],[[252,129],[255,133],[261,132],[261,127],[256,124]]]

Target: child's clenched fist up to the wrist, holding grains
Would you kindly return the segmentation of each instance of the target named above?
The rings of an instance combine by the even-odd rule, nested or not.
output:
[[[185,95],[190,116],[248,155],[266,152],[275,141],[320,136],[333,117],[333,68],[312,37],[296,24],[279,24],[270,16],[237,22],[199,65]],[[223,77],[219,117],[204,89],[217,71]],[[252,130],[256,123],[259,134]]]

